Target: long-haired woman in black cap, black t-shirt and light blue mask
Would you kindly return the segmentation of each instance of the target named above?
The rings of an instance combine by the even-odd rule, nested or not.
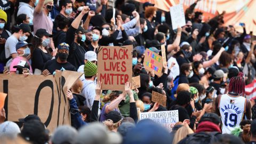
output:
[[[38,29],[32,39],[31,61],[34,74],[41,75],[45,63],[52,59],[52,55],[46,47],[50,43],[49,37],[52,35],[45,29]]]

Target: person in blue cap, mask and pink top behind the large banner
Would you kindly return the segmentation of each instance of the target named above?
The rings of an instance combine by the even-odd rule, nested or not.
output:
[[[28,55],[30,55],[30,49],[28,46],[31,46],[31,44],[29,44],[27,42],[18,42],[16,44],[16,50],[17,50],[18,57],[14,58],[12,60],[12,63],[10,65],[10,74],[16,74],[17,68],[13,68],[13,67],[17,66],[21,60],[26,61],[28,63],[29,71],[30,71],[30,73],[33,73],[32,67],[30,66],[28,59],[27,59]]]

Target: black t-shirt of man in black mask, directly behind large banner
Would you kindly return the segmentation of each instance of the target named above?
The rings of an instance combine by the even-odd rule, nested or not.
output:
[[[66,70],[76,71],[76,68],[73,65],[71,65],[71,63],[69,62],[59,63],[57,62],[56,59],[47,61],[45,63],[44,69],[49,70],[49,72],[53,74],[55,70],[60,70],[62,67],[65,68]]]

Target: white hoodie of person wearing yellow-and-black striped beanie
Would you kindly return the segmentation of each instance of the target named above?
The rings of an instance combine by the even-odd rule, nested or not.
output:
[[[84,105],[89,107],[90,109],[92,109],[93,101],[96,95],[95,87],[96,85],[93,81],[84,79],[81,95],[83,95],[83,97],[85,98]]]

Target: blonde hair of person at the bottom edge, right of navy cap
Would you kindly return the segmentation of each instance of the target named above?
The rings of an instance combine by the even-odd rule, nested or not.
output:
[[[180,129],[175,133],[173,138],[173,144],[177,144],[182,139],[186,138],[188,134],[194,133],[188,126],[182,126]]]

